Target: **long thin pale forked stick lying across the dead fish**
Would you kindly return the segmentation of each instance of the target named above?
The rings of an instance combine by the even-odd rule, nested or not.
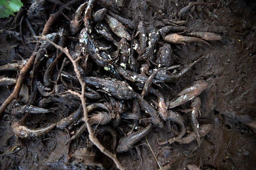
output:
[[[70,92],[71,94],[74,94],[74,95],[77,95],[80,99],[81,99],[81,102],[82,102],[82,106],[83,106],[83,121],[85,122],[86,124],[86,127],[88,129],[88,132],[89,132],[89,139],[91,142],[93,142],[93,144],[95,146],[97,146],[97,148],[99,148],[99,150],[104,153],[105,155],[107,155],[109,158],[111,158],[118,169],[121,169],[121,170],[125,170],[125,167],[123,167],[123,165],[119,162],[119,160],[117,159],[116,155],[111,153],[110,151],[108,151],[99,141],[98,139],[96,138],[96,136],[94,135],[94,131],[91,127],[91,124],[89,122],[89,118],[88,118],[88,113],[87,113],[87,107],[86,107],[86,102],[85,102],[85,98],[84,98],[84,93],[85,93],[85,83],[83,82],[82,78],[81,78],[81,75],[80,75],[80,72],[77,68],[77,64],[76,64],[76,61],[77,60],[73,60],[73,58],[71,57],[71,55],[69,54],[68,52],[68,49],[65,47],[61,47],[57,44],[55,44],[54,42],[50,41],[49,39],[46,38],[46,36],[42,35],[42,36],[36,36],[35,38],[39,38],[39,39],[43,39],[43,40],[46,40],[47,42],[50,42],[51,44],[53,44],[56,48],[60,49],[62,52],[64,52],[66,54],[66,56],[68,57],[68,59],[72,62],[73,64],[73,67],[74,67],[74,71],[76,73],[76,77],[80,83],[80,85],[82,86],[82,92],[81,94],[78,93],[78,92],[74,92],[74,91],[71,91],[71,90],[68,90],[68,92]]]

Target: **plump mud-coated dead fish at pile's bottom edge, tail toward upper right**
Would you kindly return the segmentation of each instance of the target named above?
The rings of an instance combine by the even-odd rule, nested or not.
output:
[[[144,138],[151,130],[152,123],[149,123],[149,125],[145,128],[143,128],[140,131],[134,132],[127,137],[122,137],[117,145],[116,151],[118,153],[126,152],[130,150],[135,143],[139,142],[142,138]]]

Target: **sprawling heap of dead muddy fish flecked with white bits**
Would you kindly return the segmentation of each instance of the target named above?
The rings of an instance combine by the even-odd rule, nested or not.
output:
[[[108,4],[96,0],[84,2],[73,14],[70,28],[60,28],[47,35],[60,46],[70,48],[67,37],[79,36],[77,41],[72,40],[75,43],[72,42],[73,50],[69,51],[77,59],[78,69],[86,83],[85,97],[91,124],[98,131],[107,126],[105,131],[111,131],[113,138],[119,139],[114,152],[130,150],[152,127],[167,127],[172,131],[173,124],[179,126],[179,132],[174,132],[173,138],[159,144],[196,140],[200,146],[200,138],[212,128],[209,124],[199,125],[197,121],[200,116],[198,95],[208,87],[208,82],[195,81],[173,99],[166,99],[157,89],[168,89],[166,84],[182,78],[202,58],[191,61],[186,67],[173,65],[172,44],[197,42],[210,45],[209,41],[222,37],[211,32],[186,32],[187,28],[181,26],[186,21],[172,19],[163,21],[165,27],[147,31],[143,21],[137,23],[115,14],[124,4],[121,0]],[[180,13],[185,13],[192,6],[190,4]],[[100,10],[96,11],[96,8]],[[30,13],[31,10],[33,6]],[[0,69],[11,70],[15,67],[13,70],[17,70],[24,63],[26,61],[1,66]],[[179,72],[176,71],[178,68]],[[20,138],[37,137],[56,127],[70,133],[75,131],[67,142],[70,143],[86,133],[79,98],[64,93],[68,89],[81,92],[74,75],[72,65],[64,54],[43,41],[31,72],[30,95],[25,105],[21,101],[17,104],[13,114],[55,112],[62,118],[47,127],[33,128],[25,125],[26,115],[22,121],[12,124],[15,135]],[[15,80],[7,79],[1,78],[2,84],[6,85],[4,81],[15,83]],[[191,125],[187,126],[193,129],[189,134],[183,116],[176,110],[177,106],[187,102],[191,103],[191,108],[187,110],[191,114]]]

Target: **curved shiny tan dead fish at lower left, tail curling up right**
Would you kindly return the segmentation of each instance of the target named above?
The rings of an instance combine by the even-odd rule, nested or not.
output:
[[[12,130],[14,134],[19,138],[32,138],[40,135],[44,135],[51,131],[56,126],[56,123],[44,127],[44,128],[30,128],[19,123],[12,123]]]

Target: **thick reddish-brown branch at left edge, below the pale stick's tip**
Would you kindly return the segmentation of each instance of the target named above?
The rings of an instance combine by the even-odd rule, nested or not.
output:
[[[4,110],[7,108],[7,106],[13,101],[13,99],[17,98],[19,96],[21,87],[24,82],[24,78],[26,77],[30,67],[34,64],[36,52],[39,48],[39,43],[37,43],[36,49],[32,53],[31,57],[29,58],[28,62],[25,64],[25,66],[21,69],[19,78],[17,80],[17,83],[14,87],[14,90],[11,95],[4,101],[4,103],[0,107],[0,119],[3,116]]]

